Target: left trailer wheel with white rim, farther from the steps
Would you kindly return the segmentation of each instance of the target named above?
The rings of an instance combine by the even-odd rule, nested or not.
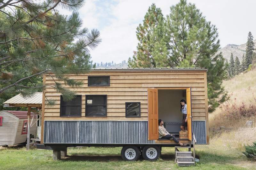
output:
[[[121,157],[126,161],[136,161],[140,158],[140,150],[137,146],[126,145],[121,151]]]

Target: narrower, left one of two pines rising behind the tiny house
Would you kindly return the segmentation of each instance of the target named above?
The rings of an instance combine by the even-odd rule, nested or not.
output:
[[[170,67],[166,56],[167,44],[164,41],[164,17],[160,8],[152,4],[144,16],[143,24],[139,24],[136,31],[139,40],[137,51],[128,60],[128,66],[133,68]],[[161,63],[161,64],[160,64]]]

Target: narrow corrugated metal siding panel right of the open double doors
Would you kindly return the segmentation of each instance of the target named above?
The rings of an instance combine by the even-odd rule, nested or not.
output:
[[[206,144],[205,121],[192,121],[192,129],[196,137],[196,144]]]

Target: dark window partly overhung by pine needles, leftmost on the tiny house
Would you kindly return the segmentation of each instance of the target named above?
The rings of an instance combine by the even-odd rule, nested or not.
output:
[[[60,116],[81,116],[82,96],[78,95],[70,101],[63,101],[60,96]]]

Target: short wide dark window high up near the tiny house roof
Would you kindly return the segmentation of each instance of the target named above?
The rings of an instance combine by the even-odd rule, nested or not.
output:
[[[110,86],[109,76],[88,76],[88,86]]]

